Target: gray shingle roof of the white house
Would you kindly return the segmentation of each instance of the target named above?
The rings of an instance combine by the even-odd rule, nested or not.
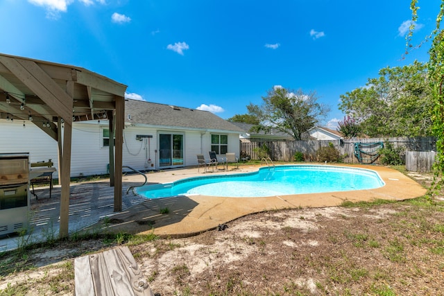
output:
[[[236,125],[208,111],[131,99],[125,100],[125,121],[155,126],[242,132]]]

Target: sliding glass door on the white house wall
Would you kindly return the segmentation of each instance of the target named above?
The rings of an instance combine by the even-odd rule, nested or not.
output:
[[[159,166],[183,166],[183,134],[159,134]]]

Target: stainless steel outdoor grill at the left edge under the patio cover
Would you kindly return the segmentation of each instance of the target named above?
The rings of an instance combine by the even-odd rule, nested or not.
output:
[[[0,154],[0,236],[28,227],[29,154]]]

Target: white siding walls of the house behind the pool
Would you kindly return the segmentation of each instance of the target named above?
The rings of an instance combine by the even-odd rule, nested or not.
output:
[[[51,159],[58,168],[57,142],[33,123],[26,121],[6,121],[0,119],[0,153],[29,153],[30,162]],[[79,175],[100,175],[107,173],[109,147],[103,146],[103,129],[108,129],[108,121],[101,123],[73,123],[71,148],[71,177]],[[183,134],[184,165],[197,165],[197,154],[209,159],[212,132],[194,130],[166,130],[127,125],[123,130],[123,166],[139,171],[160,169],[159,134]],[[226,134],[214,132],[216,134]],[[138,134],[151,135],[151,139],[136,139]],[[228,150],[239,156],[239,134],[228,134]],[[157,151],[157,152],[156,152]],[[148,160],[151,159],[151,162]],[[123,168],[123,171],[129,171]],[[53,177],[58,178],[58,172]]]

